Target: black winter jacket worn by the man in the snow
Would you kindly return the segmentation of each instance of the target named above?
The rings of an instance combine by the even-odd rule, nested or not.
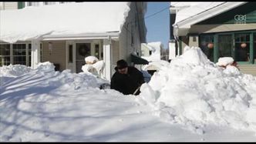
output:
[[[128,66],[127,74],[120,74],[116,69],[110,82],[110,89],[116,89],[124,95],[133,94],[140,85],[144,83],[143,73],[138,69]],[[138,95],[140,91],[136,92]]]

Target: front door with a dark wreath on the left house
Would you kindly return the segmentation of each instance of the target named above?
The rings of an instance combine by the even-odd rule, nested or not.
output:
[[[76,43],[76,72],[83,72],[82,66],[86,64],[85,58],[91,55],[91,43]]]

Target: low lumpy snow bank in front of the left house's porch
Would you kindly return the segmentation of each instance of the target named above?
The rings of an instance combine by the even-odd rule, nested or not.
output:
[[[55,66],[51,62],[42,62],[39,63],[37,69],[29,69],[25,65],[9,65],[2,67],[1,72],[2,77],[8,76],[11,73],[14,78],[18,76],[26,77],[25,75],[31,75],[30,77],[33,79],[42,78],[44,80],[40,82],[40,85],[49,85],[58,89],[99,88],[104,83],[102,79],[97,79],[95,75],[90,73],[71,73],[69,69],[56,72],[54,68]],[[23,75],[21,75],[22,73]],[[9,81],[15,82],[15,79],[8,79],[8,83],[12,83]],[[2,79],[2,85],[5,82],[6,80]]]

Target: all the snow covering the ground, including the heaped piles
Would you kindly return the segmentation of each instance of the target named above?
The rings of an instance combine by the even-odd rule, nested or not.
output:
[[[155,72],[140,95],[86,72],[0,67],[0,142],[256,141],[256,79],[199,48]]]

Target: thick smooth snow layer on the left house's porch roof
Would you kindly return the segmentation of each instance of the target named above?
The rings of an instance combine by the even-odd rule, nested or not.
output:
[[[0,41],[16,42],[43,35],[120,32],[130,2],[75,2],[0,12]]]

